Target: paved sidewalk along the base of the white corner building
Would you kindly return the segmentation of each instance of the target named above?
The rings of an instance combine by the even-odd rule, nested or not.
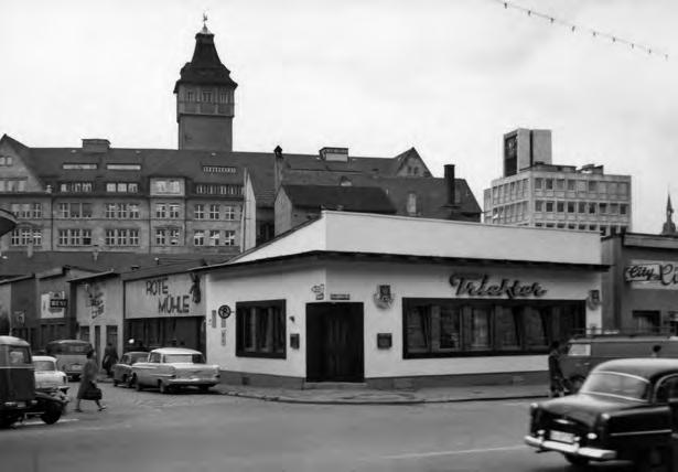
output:
[[[518,400],[548,396],[548,385],[483,385],[469,387],[432,387],[418,390],[377,390],[341,388],[308,390],[250,387],[219,384],[223,395],[265,401],[314,405],[419,405],[459,401]]]

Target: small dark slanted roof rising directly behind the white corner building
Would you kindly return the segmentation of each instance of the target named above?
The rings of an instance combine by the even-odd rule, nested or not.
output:
[[[284,184],[282,189],[295,207],[396,213],[386,192],[380,187]]]

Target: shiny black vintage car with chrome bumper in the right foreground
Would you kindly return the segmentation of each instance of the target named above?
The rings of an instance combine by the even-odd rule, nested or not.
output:
[[[678,360],[609,361],[578,394],[532,404],[525,442],[578,465],[627,460],[635,470],[668,461],[671,406],[678,401]]]

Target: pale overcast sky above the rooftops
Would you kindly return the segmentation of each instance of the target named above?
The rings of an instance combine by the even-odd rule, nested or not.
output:
[[[415,147],[482,205],[503,135],[550,129],[555,163],[631,174],[633,230],[659,233],[678,203],[678,2],[512,3],[581,28],[495,0],[1,0],[0,136],[176,149],[172,90],[206,11],[239,84],[237,151]]]

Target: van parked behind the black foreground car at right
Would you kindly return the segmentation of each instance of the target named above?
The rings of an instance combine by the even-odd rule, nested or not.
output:
[[[615,358],[649,357],[657,345],[661,357],[678,358],[678,336],[602,334],[573,337],[560,358],[560,368],[569,389],[574,393],[596,365]]]

